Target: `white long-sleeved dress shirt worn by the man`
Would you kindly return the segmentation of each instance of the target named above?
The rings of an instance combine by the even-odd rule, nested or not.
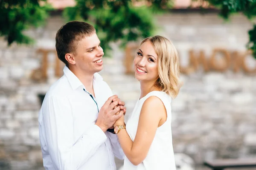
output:
[[[93,76],[94,94],[64,67],[64,75],[47,92],[39,111],[39,135],[46,170],[116,170],[124,159],[115,134],[95,125],[98,110],[112,96],[102,77]]]

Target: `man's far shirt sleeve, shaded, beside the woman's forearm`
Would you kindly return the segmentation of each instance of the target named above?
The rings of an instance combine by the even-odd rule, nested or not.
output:
[[[125,159],[125,153],[122,150],[122,147],[120,145],[117,135],[111,132],[108,132],[107,136],[111,142],[111,147],[112,147],[114,156],[116,156],[116,158],[121,160]]]

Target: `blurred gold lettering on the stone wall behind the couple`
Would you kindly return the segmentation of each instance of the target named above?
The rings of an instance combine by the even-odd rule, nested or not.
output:
[[[129,43],[125,48],[124,65],[125,74],[134,74],[133,70],[133,60],[138,48],[138,44]],[[212,50],[212,55],[208,58],[206,57],[203,50],[195,52],[193,49],[189,50],[189,64],[186,67],[180,67],[183,74],[192,74],[203,68],[205,72],[207,71],[219,71],[224,72],[231,69],[235,73],[239,71],[244,71],[247,74],[256,74],[256,67],[249,68],[246,64],[246,59],[251,55],[251,51],[246,51],[244,53],[238,51],[227,51],[226,49],[215,48]],[[49,65],[54,64],[55,77],[61,77],[62,75],[62,63],[57,56],[57,52],[53,49],[38,49],[37,54],[42,55],[41,66],[38,69],[32,71],[31,78],[38,82],[44,82],[47,80],[47,71]],[[48,55],[50,53],[55,54],[55,63],[49,63]],[[217,54],[221,54],[221,57]],[[180,57],[180,59],[182,59]]]

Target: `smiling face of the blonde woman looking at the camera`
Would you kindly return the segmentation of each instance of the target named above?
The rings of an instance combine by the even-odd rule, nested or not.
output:
[[[136,79],[142,81],[156,81],[158,79],[157,71],[158,56],[150,41],[144,42],[134,59],[134,71]]]

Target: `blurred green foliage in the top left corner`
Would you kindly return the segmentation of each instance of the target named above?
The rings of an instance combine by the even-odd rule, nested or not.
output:
[[[0,36],[7,40],[8,45],[13,42],[32,43],[32,38],[23,31],[30,26],[41,26],[50,9],[47,3],[41,6],[39,0],[0,0]]]

